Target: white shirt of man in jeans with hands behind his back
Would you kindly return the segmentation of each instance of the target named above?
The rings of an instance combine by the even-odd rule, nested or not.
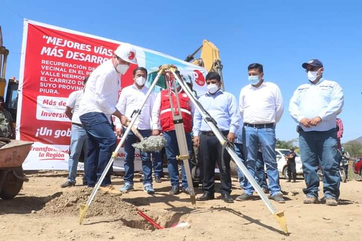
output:
[[[248,84],[240,91],[239,109],[244,123],[278,123],[284,110],[282,93],[271,82],[263,82],[257,88]]]

